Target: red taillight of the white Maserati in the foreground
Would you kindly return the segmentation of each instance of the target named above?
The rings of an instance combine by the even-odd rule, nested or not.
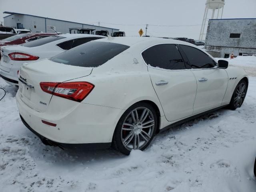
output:
[[[40,87],[46,93],[81,102],[92,91],[94,85],[88,82],[41,82]]]

